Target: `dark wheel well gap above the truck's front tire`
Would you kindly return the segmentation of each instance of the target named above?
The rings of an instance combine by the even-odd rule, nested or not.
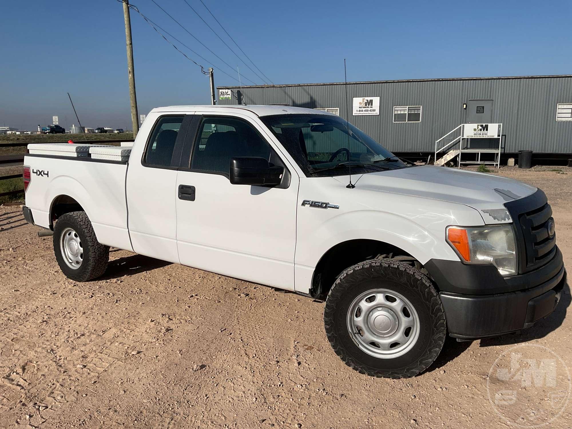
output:
[[[310,294],[314,297],[325,297],[344,269],[375,258],[401,260],[427,274],[418,260],[394,245],[378,240],[349,240],[336,244],[321,257],[314,270]]]

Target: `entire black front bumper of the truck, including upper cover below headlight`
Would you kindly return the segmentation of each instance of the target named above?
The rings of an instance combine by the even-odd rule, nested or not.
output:
[[[448,271],[451,262],[459,265],[456,271]],[[479,265],[455,261],[431,260],[426,268],[440,289],[449,334],[460,339],[502,335],[532,326],[554,311],[566,284],[566,269],[558,249],[543,267],[507,279],[492,276],[491,272],[483,277]],[[472,268],[476,270],[471,276]],[[498,273],[496,268],[494,271]],[[445,275],[449,280],[439,284],[438,279]]]

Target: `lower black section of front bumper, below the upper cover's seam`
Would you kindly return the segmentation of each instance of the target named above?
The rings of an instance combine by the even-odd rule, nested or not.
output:
[[[440,292],[449,334],[479,339],[528,328],[554,311],[566,283],[566,270],[524,291],[487,296]]]

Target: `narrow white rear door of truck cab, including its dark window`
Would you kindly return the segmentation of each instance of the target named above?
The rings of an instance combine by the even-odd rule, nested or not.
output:
[[[175,184],[191,120],[192,115],[159,116],[142,154],[132,153],[127,173],[129,234],[133,250],[174,263],[179,262]],[[137,157],[140,158],[136,160]]]

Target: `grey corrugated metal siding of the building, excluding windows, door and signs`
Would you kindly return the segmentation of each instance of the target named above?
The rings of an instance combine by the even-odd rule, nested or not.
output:
[[[220,87],[225,88],[225,87]],[[572,153],[572,121],[557,122],[557,103],[572,102],[572,78],[451,80],[348,84],[353,97],[380,97],[379,116],[349,116],[349,121],[390,150],[430,152],[435,140],[466,121],[463,103],[494,100],[492,122],[503,123],[504,152]],[[231,88],[237,103],[237,89]],[[339,108],[347,118],[344,85],[243,86],[247,104],[289,104],[307,108]],[[394,106],[422,106],[421,122],[394,123]]]

